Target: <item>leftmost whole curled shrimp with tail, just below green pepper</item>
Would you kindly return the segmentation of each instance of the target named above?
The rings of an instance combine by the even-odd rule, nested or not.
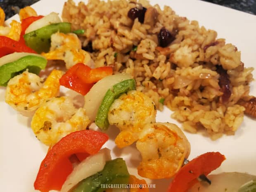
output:
[[[62,74],[62,71],[53,70],[43,83],[36,74],[24,71],[8,82],[5,102],[24,116],[31,116],[45,100],[59,94]]]

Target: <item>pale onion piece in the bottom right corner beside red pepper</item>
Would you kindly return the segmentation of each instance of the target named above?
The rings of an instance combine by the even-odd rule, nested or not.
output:
[[[242,185],[255,180],[256,176],[247,173],[232,172],[208,175],[207,178],[211,180],[211,185],[207,185],[205,182],[199,182],[193,185],[188,192],[237,192]]]

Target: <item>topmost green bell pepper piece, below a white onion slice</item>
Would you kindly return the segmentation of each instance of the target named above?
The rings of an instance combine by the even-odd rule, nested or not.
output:
[[[50,24],[24,35],[26,45],[38,53],[49,52],[53,33],[70,33],[70,23]]]

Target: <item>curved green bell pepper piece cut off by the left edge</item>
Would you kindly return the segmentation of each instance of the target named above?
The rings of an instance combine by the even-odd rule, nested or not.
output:
[[[17,61],[4,64],[0,66],[0,86],[6,86],[11,78],[25,69],[38,75],[42,69],[45,69],[46,64],[47,59],[33,55],[21,57]]]

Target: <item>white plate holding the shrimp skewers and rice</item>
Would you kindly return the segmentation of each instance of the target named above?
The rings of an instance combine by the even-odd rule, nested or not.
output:
[[[76,0],[78,2],[78,0]],[[200,25],[218,32],[219,38],[225,38],[242,51],[242,61],[245,66],[255,66],[256,58],[256,16],[239,12],[226,7],[202,2],[198,0],[152,0],[151,4],[159,3],[161,7],[169,5],[180,16],[199,21]],[[64,0],[41,0],[32,7],[38,14],[46,15],[50,12],[62,12]],[[9,19],[19,20],[16,15]],[[253,72],[256,77],[256,71]],[[256,95],[256,83],[251,83],[251,95]],[[36,178],[40,162],[45,157],[47,147],[41,144],[30,127],[31,119],[17,114],[5,101],[5,88],[0,88],[0,188],[1,192],[33,192],[33,182]],[[173,122],[171,111],[157,113],[157,121]],[[191,143],[190,159],[199,154],[219,151],[225,154],[227,160],[215,172],[238,171],[256,175],[256,121],[244,117],[242,126],[235,136],[224,136],[217,141],[209,137],[185,133]],[[113,132],[113,131],[112,131]],[[114,131],[113,134],[117,134]],[[112,135],[113,135],[112,134]],[[114,147],[113,137],[107,143],[112,151],[112,157],[122,156],[129,167],[136,166],[140,161],[140,154],[133,147],[118,150]],[[132,153],[132,154],[131,154]],[[136,169],[130,169],[136,173]],[[156,189],[152,191],[166,191],[170,180],[156,180]]]

